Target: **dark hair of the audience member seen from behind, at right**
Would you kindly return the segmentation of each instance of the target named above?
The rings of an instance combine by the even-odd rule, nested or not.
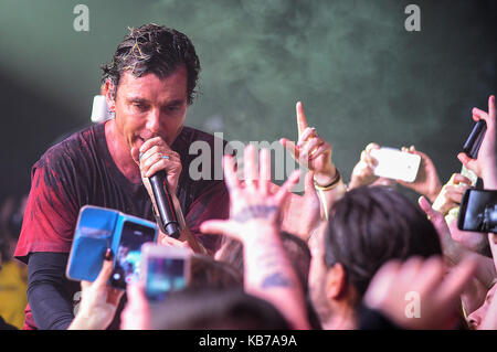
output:
[[[442,255],[435,227],[417,205],[393,189],[358,188],[331,209],[325,264],[340,263],[360,296],[388,260],[433,255]]]

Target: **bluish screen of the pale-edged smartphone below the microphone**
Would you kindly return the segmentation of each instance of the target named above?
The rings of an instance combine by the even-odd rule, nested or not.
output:
[[[163,300],[169,292],[187,286],[184,258],[149,256],[147,259],[146,295],[154,301]]]

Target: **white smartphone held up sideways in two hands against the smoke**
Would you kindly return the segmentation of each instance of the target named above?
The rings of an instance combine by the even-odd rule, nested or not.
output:
[[[421,164],[420,156],[394,148],[380,148],[371,150],[371,157],[378,161],[373,171],[377,177],[415,181]]]

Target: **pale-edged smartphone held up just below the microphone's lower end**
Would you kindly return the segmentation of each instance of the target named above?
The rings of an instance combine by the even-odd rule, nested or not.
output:
[[[145,244],[141,281],[150,301],[161,301],[170,292],[186,288],[190,282],[191,252],[184,248]]]

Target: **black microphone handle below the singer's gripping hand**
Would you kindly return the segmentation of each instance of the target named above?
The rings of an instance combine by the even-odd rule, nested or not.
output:
[[[180,236],[179,223],[172,198],[169,193],[166,171],[160,170],[148,178],[148,180],[150,181],[157,210],[159,211],[160,230],[172,238],[178,239]]]

